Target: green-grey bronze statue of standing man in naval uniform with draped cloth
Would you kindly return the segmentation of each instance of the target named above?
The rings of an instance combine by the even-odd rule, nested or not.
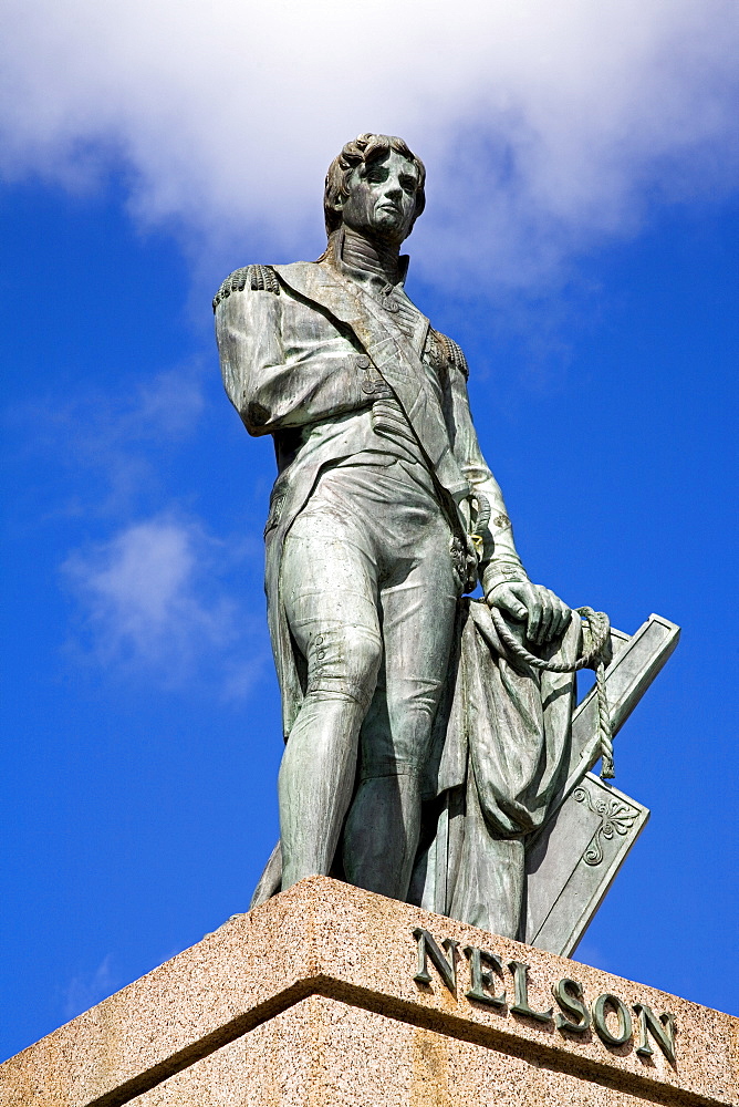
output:
[[[472,604],[461,598],[479,580],[487,604],[547,656],[569,638],[572,653],[576,634],[568,633],[570,609],[529,580],[517,554],[472,426],[461,350],[405,293],[399,248],[424,209],[424,183],[405,142],[361,135],[329,168],[325,254],[237,270],[215,300],[226,390],[250,434],[273,436],[279,469],[266,541],[287,737],[280,880],[285,889],[334,872],[423,900],[419,858],[435,830],[424,831],[424,845],[421,799],[436,818],[438,797],[456,788],[467,810],[475,776],[480,797],[486,786],[495,794],[475,804],[485,834],[502,844],[490,880],[508,906],[480,907],[490,893],[469,875],[460,892],[457,857],[449,860],[464,899],[457,910],[514,935],[522,842],[556,790],[568,741],[570,702],[555,725],[547,703],[571,697],[572,682],[552,677],[559,691],[544,694],[547,677],[509,665],[478,603],[475,621],[498,682],[491,692],[493,677],[480,677],[497,720],[485,725],[497,731],[488,769],[479,768],[467,746],[459,753],[459,737],[449,738],[450,726],[469,728],[458,720],[470,699],[459,672]],[[445,742],[461,767],[429,790],[431,762],[437,777],[440,761],[449,763]],[[506,784],[501,774],[518,777]],[[475,835],[467,838],[471,848]],[[271,882],[279,888],[274,871]],[[451,889],[448,899],[454,913]]]

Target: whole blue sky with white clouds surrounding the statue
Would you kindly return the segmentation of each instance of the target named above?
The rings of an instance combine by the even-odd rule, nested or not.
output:
[[[467,352],[530,575],[623,630],[652,611],[683,627],[616,742],[616,786],[652,820],[576,955],[739,1013],[736,4],[622,3],[614,37],[613,4],[600,28],[573,0],[543,38],[469,4],[495,80],[435,6],[418,44],[400,4],[402,106],[379,65],[329,122],[299,52],[271,106],[237,92],[231,118],[206,112],[219,64],[240,64],[225,38],[178,25],[169,42],[166,3],[121,7],[115,27],[66,7],[27,7],[0,113],[0,1053],[244,910],[273,845],[273,456],[222,393],[210,297],[237,266],[320,252],[322,174],[373,125],[428,154],[408,291]],[[331,35],[311,45],[320,60]],[[23,81],[42,62],[37,102]]]

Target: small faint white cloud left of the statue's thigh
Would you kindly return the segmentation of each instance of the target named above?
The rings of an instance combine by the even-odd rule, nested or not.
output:
[[[72,554],[62,568],[94,659],[167,684],[211,677],[215,668],[229,697],[244,695],[264,651],[253,642],[261,619],[239,610],[223,584],[235,557],[197,520],[167,516]]]

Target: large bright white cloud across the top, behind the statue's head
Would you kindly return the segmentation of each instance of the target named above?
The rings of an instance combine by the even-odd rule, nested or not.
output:
[[[360,131],[429,166],[415,254],[535,283],[737,168],[736,0],[6,0],[9,174],[133,170],[137,216],[243,260],[320,245]]]

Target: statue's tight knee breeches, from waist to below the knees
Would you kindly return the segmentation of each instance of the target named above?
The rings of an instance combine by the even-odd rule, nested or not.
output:
[[[329,470],[282,555],[305,693],[357,702],[363,777],[418,770],[447,676],[459,583],[449,525],[419,470]]]

